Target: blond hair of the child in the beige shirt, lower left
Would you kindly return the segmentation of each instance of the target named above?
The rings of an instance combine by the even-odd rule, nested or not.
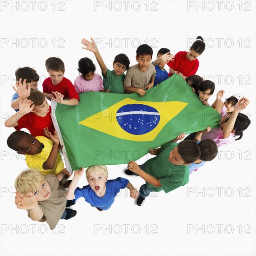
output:
[[[28,192],[34,193],[44,182],[44,175],[35,169],[23,171],[14,182],[15,189],[23,195]]]

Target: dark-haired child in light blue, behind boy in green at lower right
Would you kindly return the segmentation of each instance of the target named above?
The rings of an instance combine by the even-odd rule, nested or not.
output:
[[[189,174],[202,167],[205,162],[212,161],[218,154],[218,148],[213,140],[205,139],[203,141],[196,141],[200,148],[201,155],[195,162],[189,164]]]

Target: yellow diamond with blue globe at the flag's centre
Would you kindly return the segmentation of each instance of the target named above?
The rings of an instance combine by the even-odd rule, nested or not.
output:
[[[129,141],[153,141],[188,105],[181,101],[135,101],[126,98],[79,124]]]

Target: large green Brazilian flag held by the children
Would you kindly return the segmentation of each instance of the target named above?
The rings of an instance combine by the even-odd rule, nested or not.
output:
[[[218,127],[220,115],[205,106],[180,75],[147,94],[80,94],[78,106],[52,104],[54,127],[67,170],[136,161],[174,139]]]

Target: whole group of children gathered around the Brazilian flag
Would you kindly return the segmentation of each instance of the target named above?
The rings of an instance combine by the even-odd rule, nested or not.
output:
[[[84,170],[83,167],[75,170],[73,180],[66,180],[71,174],[64,168],[61,159],[61,145],[54,130],[51,106],[47,99],[76,106],[79,104],[79,94],[89,91],[137,93],[142,97],[148,89],[161,86],[161,82],[172,74],[181,75],[204,105],[209,105],[208,99],[215,90],[214,82],[203,81],[202,77],[196,75],[199,67],[197,57],[205,49],[200,36],[188,52],[178,52],[174,56],[168,48],[161,48],[155,61],[152,61],[152,48],[143,44],[136,50],[137,64],[129,67],[127,55],[118,54],[113,61],[113,70],[106,67],[92,38],[91,41],[82,39],[81,43],[83,49],[94,53],[102,77],[95,73],[96,67],[92,60],[82,58],[78,62],[79,76],[73,85],[64,77],[63,61],[51,57],[45,62],[49,77],[43,82],[43,92],[40,92],[36,71],[30,67],[18,68],[15,72],[16,88],[13,87],[16,93],[11,103],[16,113],[5,121],[6,127],[16,129],[8,137],[7,145],[18,154],[26,155],[26,163],[30,168],[18,175],[15,181],[15,203],[19,209],[26,209],[32,220],[46,221],[51,229],[60,219],[67,220],[76,215],[76,211],[69,207],[80,197],[101,211],[110,208],[120,189],[128,188],[130,196],[137,198],[137,205],[141,206],[153,191],[164,190],[168,193],[185,185],[189,182],[189,174],[213,160],[218,147],[234,142],[234,136],[239,135],[238,139],[241,139],[243,130],[250,124],[249,118],[240,113],[248,106],[249,100],[234,94],[222,102],[224,91],[219,91],[211,106],[221,114],[219,128],[208,127],[186,139],[185,133],[181,133],[161,148],[150,149],[149,153],[156,157],[144,164],[137,165],[134,161],[128,163],[125,173],[139,175],[146,182],[139,192],[127,179],[118,177],[108,180],[106,166],[87,168],[88,185],[76,188]],[[169,73],[164,69],[165,64],[169,67]],[[30,134],[21,131],[21,128],[27,128]],[[176,143],[178,140],[182,141]],[[68,188],[67,191],[65,188]]]

